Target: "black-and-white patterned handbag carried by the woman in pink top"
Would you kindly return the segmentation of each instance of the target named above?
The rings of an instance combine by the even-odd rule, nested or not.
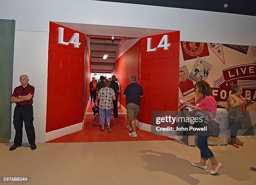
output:
[[[202,122],[196,122],[194,124],[197,128],[207,128],[206,131],[202,131],[202,135],[211,136],[211,137],[218,137],[220,134],[220,124],[216,121],[216,119],[211,114],[211,120],[208,121],[204,117],[202,117]]]

